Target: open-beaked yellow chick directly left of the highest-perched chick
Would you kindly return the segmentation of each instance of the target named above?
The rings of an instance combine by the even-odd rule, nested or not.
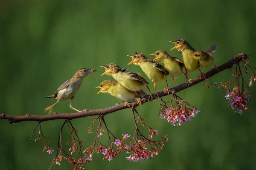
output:
[[[157,50],[153,54],[149,54],[149,55],[155,56],[153,61],[159,60],[163,62],[164,67],[166,68],[167,71],[169,71],[169,74],[171,75],[173,82],[177,86],[177,82],[175,81],[175,78],[183,74],[184,63],[180,59],[176,57],[172,57],[170,54],[168,54],[166,51],[163,51],[163,50]]]

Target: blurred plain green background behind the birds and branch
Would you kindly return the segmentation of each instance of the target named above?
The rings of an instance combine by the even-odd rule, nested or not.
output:
[[[116,63],[140,72],[127,54],[135,51],[145,55],[158,49],[169,51],[169,40],[184,38],[198,50],[218,44],[213,54],[220,65],[239,52],[251,55],[254,66],[256,1],[216,0],[84,0],[84,1],[26,1],[7,0],[0,3],[0,113],[44,115],[43,109],[55,100],[45,99],[79,68],[98,71],[84,79],[76,95],[78,109],[106,108],[120,102],[108,94],[96,95],[95,87],[104,79],[99,65]],[[178,51],[171,51],[181,59]],[[204,69],[209,70],[210,68]],[[143,74],[145,77],[145,74]],[[189,74],[197,77],[198,71]],[[232,72],[226,70],[212,78],[227,82]],[[184,82],[184,77],[177,79]],[[246,77],[249,82],[249,76]],[[173,83],[169,77],[169,84]],[[159,156],[133,163],[125,153],[113,161],[102,161],[102,154],[93,155],[85,169],[175,169],[175,170],[241,170],[255,169],[256,159],[256,97],[248,103],[243,115],[228,108],[225,91],[203,88],[205,82],[188,88],[178,95],[197,106],[201,113],[191,122],[174,127],[157,116],[160,101],[148,102],[138,108],[146,122],[159,130],[157,137],[168,134],[169,141]],[[157,89],[165,87],[159,83]],[[153,85],[150,85],[153,89]],[[255,89],[255,87],[253,86]],[[165,99],[169,99],[166,97]],[[72,113],[69,101],[56,105],[54,111]],[[114,134],[133,133],[134,124],[129,110],[106,116]],[[91,144],[94,134],[87,133],[93,118],[73,120],[85,145]],[[56,140],[63,120],[42,123],[45,136]],[[9,125],[0,121],[0,169],[47,170],[54,155],[42,152],[40,142],[28,143],[36,122]],[[63,139],[67,141],[64,129]],[[34,136],[35,137],[35,136]],[[107,139],[106,134],[103,140]],[[71,169],[61,162],[61,170]],[[55,169],[56,167],[52,167]]]

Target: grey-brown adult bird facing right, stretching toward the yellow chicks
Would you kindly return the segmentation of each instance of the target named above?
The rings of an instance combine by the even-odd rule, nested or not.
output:
[[[73,108],[73,101],[75,99],[76,92],[79,90],[83,79],[90,73],[95,72],[94,69],[80,68],[71,79],[65,81],[52,96],[47,96],[46,98],[54,98],[57,102],[53,103],[51,106],[45,108],[45,111],[51,110],[58,102],[61,100],[70,99],[70,108],[80,112],[76,108]]]

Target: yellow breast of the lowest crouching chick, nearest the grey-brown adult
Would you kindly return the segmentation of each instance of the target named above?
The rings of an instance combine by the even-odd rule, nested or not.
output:
[[[112,96],[124,101],[131,102],[136,99],[136,94],[123,87],[121,84],[115,85],[108,90],[108,93]]]

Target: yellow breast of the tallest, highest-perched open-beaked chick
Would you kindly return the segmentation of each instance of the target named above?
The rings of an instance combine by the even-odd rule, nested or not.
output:
[[[191,54],[193,52],[195,52],[195,51],[192,51],[192,50],[183,50],[182,51],[182,58],[183,58],[183,62],[184,62],[184,65],[185,65],[185,68],[187,69],[187,71],[195,71],[196,69],[199,68],[198,61],[192,57],[189,57],[189,54]]]

